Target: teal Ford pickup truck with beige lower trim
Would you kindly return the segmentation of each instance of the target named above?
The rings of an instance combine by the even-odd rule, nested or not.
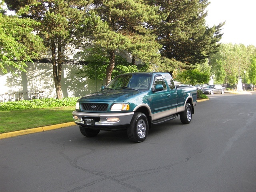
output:
[[[96,136],[100,130],[126,129],[132,142],[142,142],[151,124],[178,115],[183,124],[189,124],[196,98],[196,87],[176,87],[169,73],[121,74],[102,91],[80,98],[72,114],[86,137]]]

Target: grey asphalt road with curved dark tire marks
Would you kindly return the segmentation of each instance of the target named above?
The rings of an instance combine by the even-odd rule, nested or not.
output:
[[[78,126],[0,140],[0,192],[256,192],[256,94],[214,94],[146,141]]]

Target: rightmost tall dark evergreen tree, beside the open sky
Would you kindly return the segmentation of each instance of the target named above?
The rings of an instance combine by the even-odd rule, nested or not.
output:
[[[156,34],[162,44],[161,55],[169,60],[182,62],[183,69],[192,69],[216,52],[224,23],[206,26],[208,0],[148,0],[150,5],[160,6],[164,20],[156,23]],[[177,62],[169,62],[174,70]]]

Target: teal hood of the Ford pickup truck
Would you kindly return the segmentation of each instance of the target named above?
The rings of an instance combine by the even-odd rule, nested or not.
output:
[[[88,94],[79,99],[83,102],[124,102],[127,98],[139,94],[133,90],[106,90]]]

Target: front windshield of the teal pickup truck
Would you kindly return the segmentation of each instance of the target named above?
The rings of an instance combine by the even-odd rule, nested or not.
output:
[[[150,81],[151,75],[149,74],[123,74],[116,76],[106,86],[106,89],[148,90]]]

